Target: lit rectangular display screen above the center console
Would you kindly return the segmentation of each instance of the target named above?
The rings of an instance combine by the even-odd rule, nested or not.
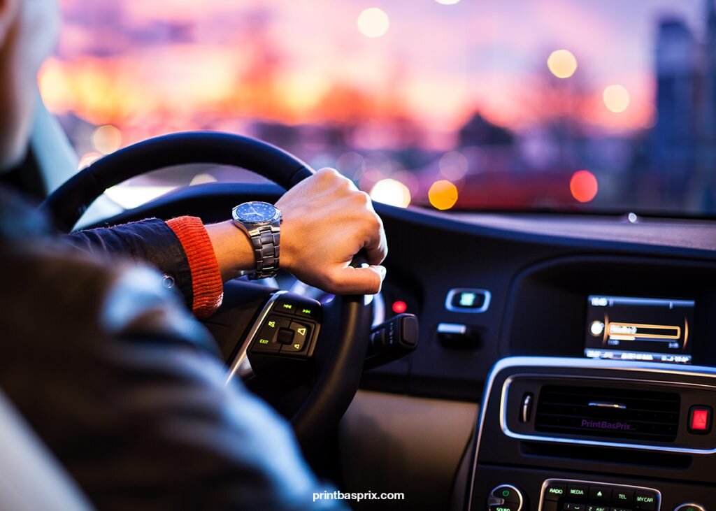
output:
[[[584,354],[590,359],[691,364],[693,300],[587,299]]]

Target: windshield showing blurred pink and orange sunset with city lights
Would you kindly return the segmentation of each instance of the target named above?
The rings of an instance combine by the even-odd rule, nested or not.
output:
[[[716,212],[714,0],[62,0],[42,96],[80,166],[259,137],[374,200]],[[192,168],[155,190],[245,173]],[[115,190],[116,191],[116,190]]]

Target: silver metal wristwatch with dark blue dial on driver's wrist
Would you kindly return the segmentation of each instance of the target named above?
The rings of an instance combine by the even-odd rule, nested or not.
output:
[[[248,278],[273,277],[279,271],[279,242],[281,240],[281,211],[269,203],[249,202],[231,210],[233,223],[251,241],[256,258],[256,270]]]

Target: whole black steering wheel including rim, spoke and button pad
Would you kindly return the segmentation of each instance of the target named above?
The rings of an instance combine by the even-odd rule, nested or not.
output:
[[[243,167],[286,190],[314,174],[299,158],[260,140],[185,132],[102,157],[55,190],[41,208],[57,228],[69,232],[107,188],[151,170],[191,163]],[[341,296],[321,304],[239,279],[226,283],[224,293],[223,306],[205,324],[226,357],[228,380],[241,376],[260,389],[258,382],[266,375],[263,395],[289,417],[301,447],[310,452],[337,424],[358,389],[372,321],[368,297]],[[269,339],[271,332],[265,332],[277,326],[286,327],[282,334],[293,331],[296,342],[286,344],[284,335],[279,343],[278,334]],[[258,377],[252,379],[254,375]],[[286,378],[295,381],[289,384]]]

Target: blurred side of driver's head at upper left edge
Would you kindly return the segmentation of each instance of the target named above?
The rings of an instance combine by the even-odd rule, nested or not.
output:
[[[0,172],[24,156],[37,72],[54,47],[57,0],[0,0]]]

